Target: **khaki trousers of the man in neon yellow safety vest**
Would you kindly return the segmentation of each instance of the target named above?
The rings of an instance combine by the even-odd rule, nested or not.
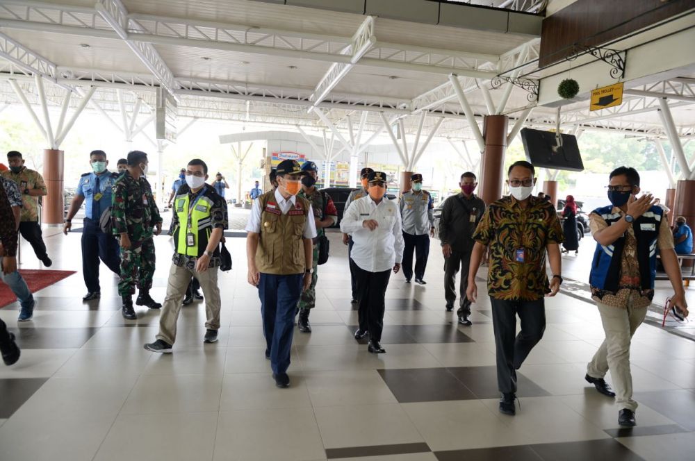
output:
[[[167,296],[164,299],[164,305],[159,317],[158,340],[163,340],[168,344],[174,344],[174,341],[176,341],[176,324],[179,319],[179,312],[181,312],[181,303],[192,276],[200,282],[200,287],[205,296],[205,314],[207,317],[205,328],[208,330],[218,330],[220,328],[222,300],[220,299],[220,288],[217,280],[218,267],[198,272],[172,263],[172,267],[169,269]]]

